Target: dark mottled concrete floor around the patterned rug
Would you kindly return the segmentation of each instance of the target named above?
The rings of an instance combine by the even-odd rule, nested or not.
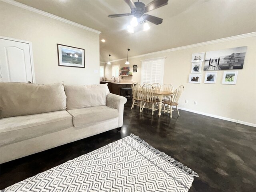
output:
[[[199,174],[190,192],[256,191],[256,128],[180,110],[173,118],[125,105],[121,132],[110,130],[0,165],[0,188],[34,176],[129,133]]]

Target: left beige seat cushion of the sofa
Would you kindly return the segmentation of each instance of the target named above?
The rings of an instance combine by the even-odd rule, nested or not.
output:
[[[0,120],[0,145],[35,138],[72,126],[72,116],[66,110],[3,118]]]

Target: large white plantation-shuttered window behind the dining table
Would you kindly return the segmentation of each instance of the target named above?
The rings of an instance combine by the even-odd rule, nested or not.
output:
[[[164,78],[164,59],[155,58],[141,61],[141,84],[160,83],[163,84]]]

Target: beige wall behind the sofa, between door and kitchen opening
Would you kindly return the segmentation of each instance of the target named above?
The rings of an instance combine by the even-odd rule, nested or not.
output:
[[[36,83],[99,83],[99,34],[5,2],[0,3],[0,21],[1,36],[32,42]],[[86,67],[58,66],[57,43],[84,48]]]

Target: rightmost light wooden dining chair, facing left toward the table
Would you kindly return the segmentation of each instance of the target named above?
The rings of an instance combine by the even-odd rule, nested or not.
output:
[[[178,104],[179,104],[178,102],[183,91],[184,91],[184,86],[180,85],[178,86],[178,88],[176,88],[176,90],[172,94],[172,98],[170,101],[162,101],[164,105],[167,104],[167,109],[165,110],[165,106],[164,106],[164,110],[162,111],[164,111],[164,113],[165,112],[170,113],[170,118],[172,118],[172,111],[173,111],[172,106],[176,106],[178,116],[180,116],[179,109],[178,109]]]

